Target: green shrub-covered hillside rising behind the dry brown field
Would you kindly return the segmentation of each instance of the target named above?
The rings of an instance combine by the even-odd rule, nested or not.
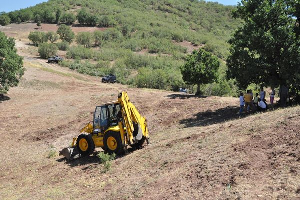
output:
[[[86,49],[74,40],[64,54],[68,61],[63,66],[94,76],[115,73],[120,83],[136,87],[173,91],[190,87],[192,91],[193,85],[184,83],[179,67],[187,53],[199,48],[226,59],[227,41],[241,24],[232,17],[233,9],[198,0],[49,0],[2,14],[10,16],[12,22],[22,20],[8,28],[25,29],[29,34],[56,31],[56,22],[64,14],[78,17],[84,12],[95,18],[95,24],[87,25],[78,17],[71,27],[76,34],[100,30],[100,45]],[[38,20],[42,29],[36,26]],[[222,61],[219,81],[207,86],[213,88],[213,95],[236,95],[233,81],[225,80],[225,70]],[[208,94],[208,89],[203,87],[203,91]]]

